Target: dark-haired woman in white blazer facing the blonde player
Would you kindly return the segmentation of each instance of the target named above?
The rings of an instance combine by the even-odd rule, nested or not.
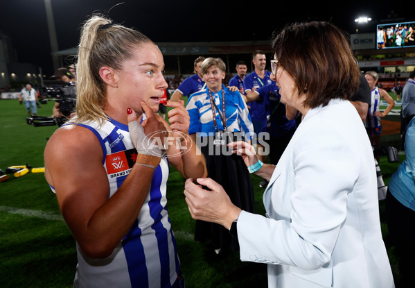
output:
[[[303,120],[276,166],[245,142],[230,144],[250,172],[270,180],[266,217],[241,211],[209,178],[186,181],[192,217],[228,228],[242,261],[268,264],[269,287],[394,287],[373,151],[348,101],[360,70],[346,37],[326,22],[292,24],[272,46],[281,102]]]

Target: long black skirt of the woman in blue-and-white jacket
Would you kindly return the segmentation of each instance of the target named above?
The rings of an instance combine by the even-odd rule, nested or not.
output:
[[[254,212],[254,187],[242,157],[228,153],[229,150],[222,151],[218,149],[220,146],[212,143],[213,139],[210,139],[211,145],[200,147],[206,159],[208,177],[222,185],[234,205],[247,212]],[[211,240],[213,249],[239,250],[238,239],[232,237],[229,230],[216,223],[197,220],[195,240],[204,242],[208,239]]]

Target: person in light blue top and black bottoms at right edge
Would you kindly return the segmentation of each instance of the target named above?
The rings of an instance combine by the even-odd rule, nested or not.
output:
[[[405,160],[391,176],[386,196],[386,220],[396,247],[400,279],[397,287],[412,287],[415,271],[415,119],[405,134]],[[399,284],[399,286],[398,286]]]

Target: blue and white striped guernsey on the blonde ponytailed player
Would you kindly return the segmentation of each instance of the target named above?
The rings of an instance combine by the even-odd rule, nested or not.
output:
[[[71,124],[71,121],[68,122]],[[128,126],[113,119],[103,126],[95,122],[78,124],[91,130],[104,153],[110,196],[116,193],[136,160]],[[78,265],[74,287],[171,287],[180,269],[176,241],[166,208],[168,160],[161,159],[143,207],[112,255],[92,259],[78,244]],[[85,192],[87,193],[87,192]],[[108,231],[111,233],[111,231]]]

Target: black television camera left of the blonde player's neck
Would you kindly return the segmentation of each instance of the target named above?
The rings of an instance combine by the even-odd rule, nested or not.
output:
[[[31,115],[26,118],[26,123],[35,127],[55,125],[62,126],[62,124],[68,121],[71,113],[75,111],[76,85],[71,82],[45,81],[44,87],[39,90],[40,94],[43,95],[39,96],[39,98],[42,98],[39,102],[42,104],[46,104],[49,101],[59,103],[59,110],[63,116],[46,117]]]

